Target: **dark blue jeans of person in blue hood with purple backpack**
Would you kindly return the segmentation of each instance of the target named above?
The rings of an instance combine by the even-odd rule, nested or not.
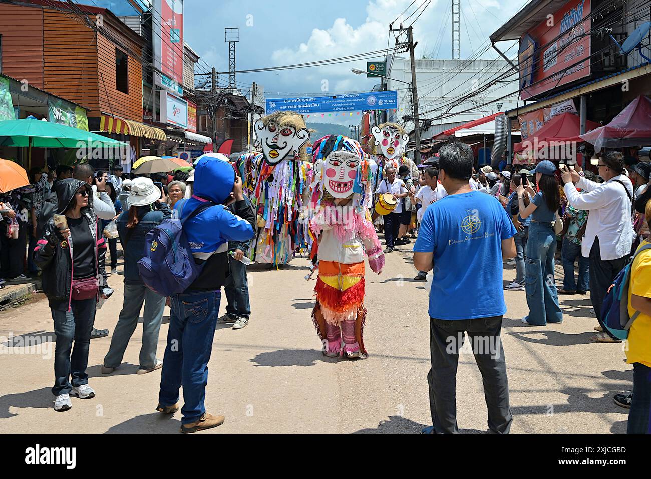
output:
[[[206,412],[208,361],[220,300],[220,291],[186,291],[170,297],[172,312],[158,402],[176,404],[183,386],[182,424],[195,422]]]

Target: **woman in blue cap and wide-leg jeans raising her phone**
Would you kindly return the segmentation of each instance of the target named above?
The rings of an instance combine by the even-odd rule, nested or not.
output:
[[[563,320],[554,284],[556,233],[552,226],[561,206],[561,193],[554,163],[544,159],[531,172],[536,175],[539,191],[536,193],[530,185],[525,187],[522,183],[517,190],[519,216],[526,218],[531,215],[525,262],[529,314],[521,321],[532,326],[544,326],[547,323],[561,323]],[[529,206],[525,204],[527,193],[531,195]]]

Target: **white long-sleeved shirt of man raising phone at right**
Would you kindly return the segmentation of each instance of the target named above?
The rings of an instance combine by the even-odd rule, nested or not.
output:
[[[596,183],[583,176],[576,186],[572,182],[564,186],[565,196],[577,210],[589,210],[585,236],[581,241],[581,254],[590,257],[594,238],[599,237],[602,260],[618,260],[631,253],[633,227],[631,225],[631,200],[624,191],[633,195],[633,184],[628,176],[620,174],[605,183]],[[579,187],[586,193],[576,191]]]

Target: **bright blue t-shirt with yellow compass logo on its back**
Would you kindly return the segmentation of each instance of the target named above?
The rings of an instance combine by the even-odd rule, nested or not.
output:
[[[413,251],[434,252],[430,318],[503,316],[502,240],[515,234],[499,200],[479,191],[449,195],[427,208]]]

